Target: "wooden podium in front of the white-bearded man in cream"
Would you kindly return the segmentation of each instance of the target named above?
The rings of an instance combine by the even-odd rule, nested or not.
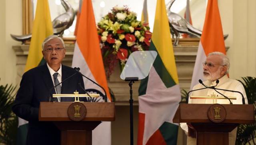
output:
[[[240,123],[254,123],[254,106],[240,104],[180,104],[174,123],[191,123],[197,145],[228,145],[228,133]]]

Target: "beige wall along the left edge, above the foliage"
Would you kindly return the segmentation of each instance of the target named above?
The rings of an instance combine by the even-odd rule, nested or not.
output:
[[[15,84],[16,56],[12,45],[20,44],[10,37],[12,34],[22,34],[22,0],[0,1],[0,84]]]

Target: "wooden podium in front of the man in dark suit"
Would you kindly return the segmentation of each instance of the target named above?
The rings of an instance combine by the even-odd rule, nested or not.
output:
[[[114,102],[82,102],[86,116],[81,121],[68,117],[73,102],[40,102],[39,121],[52,121],[61,131],[61,145],[92,145],[92,130],[101,121],[115,120]]]

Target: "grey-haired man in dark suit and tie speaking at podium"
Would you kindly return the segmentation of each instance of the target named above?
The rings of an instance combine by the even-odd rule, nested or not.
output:
[[[60,131],[52,123],[38,121],[40,102],[48,102],[50,94],[84,94],[84,82],[80,74],[72,76],[58,87],[54,85],[62,82],[76,71],[62,65],[65,57],[65,46],[62,38],[50,35],[42,44],[42,53],[46,64],[25,72],[20,82],[12,111],[20,118],[29,121],[27,145],[59,145]],[[52,88],[52,89],[51,89]],[[74,98],[52,98],[53,101],[74,101]]]

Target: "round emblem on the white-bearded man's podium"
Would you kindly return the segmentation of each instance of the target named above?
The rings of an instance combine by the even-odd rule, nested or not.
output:
[[[221,104],[212,104],[208,108],[207,117],[214,123],[220,123],[226,119],[226,109]]]

